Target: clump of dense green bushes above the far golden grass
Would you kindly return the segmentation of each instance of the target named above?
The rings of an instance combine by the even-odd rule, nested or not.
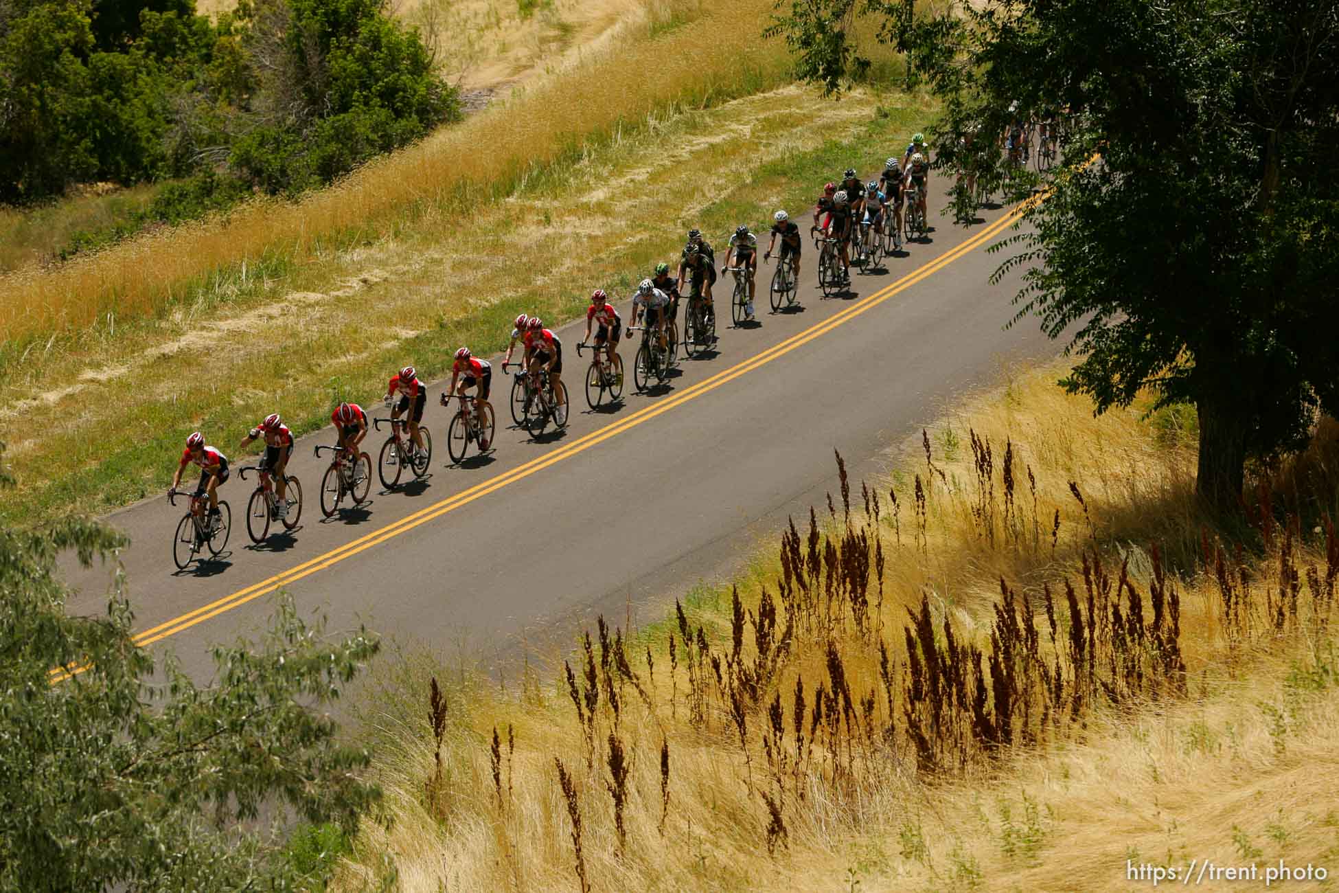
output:
[[[459,115],[384,0],[0,0],[0,202],[205,170],[329,182]],[[280,153],[277,157],[272,153]]]

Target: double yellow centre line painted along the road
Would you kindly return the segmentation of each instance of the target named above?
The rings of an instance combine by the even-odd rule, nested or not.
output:
[[[1031,202],[1026,202],[1024,205],[1015,208],[1008,214],[1004,214],[1003,217],[1000,217],[1000,220],[995,221],[976,236],[948,249],[947,252],[936,257],[933,261],[912,270],[911,273],[884,287],[882,289],[870,295],[869,297],[865,297],[857,301],[856,304],[844,308],[842,311],[834,313],[829,319],[821,323],[815,323],[810,328],[790,336],[789,339],[781,341],[779,344],[775,344],[754,355],[753,357],[730,367],[728,370],[723,370],[712,375],[711,378],[707,378],[694,386],[684,388],[680,392],[674,394],[672,396],[664,400],[659,400],[651,406],[643,407],[641,410],[637,410],[636,412],[632,412],[628,416],[619,419],[617,422],[607,424],[605,427],[593,431],[590,434],[586,434],[578,438],[577,440],[562,444],[561,447],[546,455],[532,459],[509,471],[503,471],[487,481],[483,481],[466,490],[462,490],[461,493],[453,494],[442,499],[441,502],[419,509],[418,511],[406,515],[404,518],[394,521],[371,533],[367,533],[321,556],[304,561],[300,565],[289,568],[288,570],[274,574],[266,580],[261,580],[260,582],[252,584],[244,589],[238,589],[232,594],[224,596],[222,598],[218,598],[206,605],[195,608],[194,611],[183,613],[178,617],[173,617],[171,620],[163,621],[157,627],[145,629],[143,632],[135,635],[134,643],[141,647],[151,645],[157,641],[167,639],[169,636],[174,636],[179,632],[190,629],[195,624],[217,617],[218,615],[232,611],[234,608],[240,608],[241,605],[245,605],[246,602],[258,598],[260,596],[268,594],[281,586],[296,582],[307,576],[316,573],[317,570],[324,570],[331,565],[335,565],[352,556],[356,556],[364,549],[371,549],[375,545],[380,545],[387,540],[391,540],[392,537],[398,537],[402,533],[412,530],[414,527],[422,523],[427,523],[428,521],[439,518],[449,511],[454,511],[461,506],[469,505],[470,502],[474,502],[479,497],[487,495],[495,490],[507,486],[509,483],[514,483],[552,465],[556,465],[578,453],[582,453],[589,447],[596,446],[597,443],[603,443],[604,440],[608,440],[615,435],[623,434],[624,431],[628,431],[629,428],[633,428],[637,424],[641,424],[643,422],[648,422],[656,418],[661,412],[668,412],[672,408],[683,406],[688,400],[694,400],[702,396],[703,394],[708,394],[716,390],[718,387],[727,384],[728,382],[732,382],[740,375],[746,375],[747,372],[751,372],[758,367],[765,366],[789,353],[790,351],[794,351],[795,348],[807,344],[809,341],[822,335],[826,335],[838,325],[845,324],[846,321],[854,319],[856,316],[860,316],[861,313],[873,309],[878,304],[882,304],[894,295],[911,288],[912,285],[916,285],[917,282],[939,272],[948,264],[975,250],[983,242],[994,238],[996,233],[1014,224],[1026,212],[1028,206],[1031,206]],[[72,672],[82,672],[83,669],[84,669],[83,667],[78,667],[74,668]],[[60,677],[68,677],[68,671],[54,669],[52,675],[54,676],[59,675]]]

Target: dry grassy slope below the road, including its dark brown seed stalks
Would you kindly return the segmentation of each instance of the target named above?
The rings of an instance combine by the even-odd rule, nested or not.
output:
[[[335,889],[1115,890],[1126,860],[1334,865],[1332,527],[1209,526],[1184,416],[1094,419],[1060,371],[967,400],[735,588],[588,631],[542,679],[384,669],[364,704],[395,821],[364,823]],[[1273,491],[1332,494],[1335,451],[1327,428]]]

